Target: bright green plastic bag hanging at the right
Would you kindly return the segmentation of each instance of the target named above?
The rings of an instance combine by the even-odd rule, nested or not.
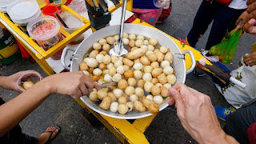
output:
[[[237,50],[238,40],[242,36],[242,33],[242,29],[234,29],[230,33],[227,33],[221,43],[210,48],[209,54],[218,56],[220,62],[232,62],[235,51]]]

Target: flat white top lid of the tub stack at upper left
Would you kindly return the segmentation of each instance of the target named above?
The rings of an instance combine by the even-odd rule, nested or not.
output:
[[[18,2],[7,7],[7,13],[13,21],[28,19],[38,13],[39,6],[36,2]]]

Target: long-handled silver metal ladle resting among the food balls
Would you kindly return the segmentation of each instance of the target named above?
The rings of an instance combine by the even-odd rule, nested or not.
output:
[[[126,18],[126,0],[123,0],[118,42],[116,43],[114,48],[110,50],[111,55],[115,55],[118,57],[128,53],[128,51],[124,48],[123,43],[122,43],[122,32],[123,32],[123,24],[125,22],[125,18]]]

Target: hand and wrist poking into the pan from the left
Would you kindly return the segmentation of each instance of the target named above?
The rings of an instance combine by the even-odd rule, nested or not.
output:
[[[44,78],[42,82],[50,86],[50,93],[67,94],[72,98],[90,94],[94,88],[100,89],[98,84],[82,71],[54,74]]]

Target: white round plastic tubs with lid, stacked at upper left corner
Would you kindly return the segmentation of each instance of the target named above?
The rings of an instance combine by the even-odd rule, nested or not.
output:
[[[29,22],[41,16],[38,3],[34,0],[21,0],[12,6],[8,6],[7,13],[14,23],[21,26],[26,26]]]

